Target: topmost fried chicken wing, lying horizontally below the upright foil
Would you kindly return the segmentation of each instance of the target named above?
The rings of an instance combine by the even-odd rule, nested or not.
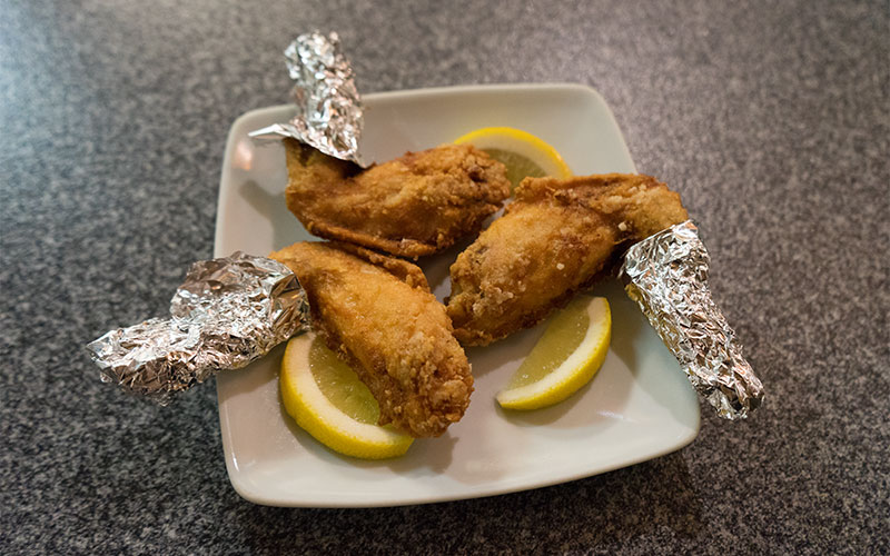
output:
[[[510,195],[506,168],[469,145],[443,145],[372,166],[285,140],[287,208],[310,234],[403,257],[478,232]]]

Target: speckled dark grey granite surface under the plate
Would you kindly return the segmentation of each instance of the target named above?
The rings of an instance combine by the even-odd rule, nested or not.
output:
[[[705,230],[767,405],[565,485],[286,509],[229,485],[212,385],[101,385],[83,345],[211,255],[226,132],[312,28],[365,92],[599,89]],[[0,553],[887,554],[888,60],[887,1],[0,0]]]

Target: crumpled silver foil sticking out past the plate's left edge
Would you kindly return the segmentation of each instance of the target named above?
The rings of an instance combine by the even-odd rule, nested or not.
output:
[[[237,369],[308,329],[296,276],[236,251],[195,262],[170,301],[170,318],[111,330],[87,346],[103,383],[167,405],[171,395]]]

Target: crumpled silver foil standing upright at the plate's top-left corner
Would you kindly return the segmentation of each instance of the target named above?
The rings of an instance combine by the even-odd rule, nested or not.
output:
[[[362,97],[337,33],[300,34],[285,50],[296,115],[290,121],[251,131],[254,139],[290,137],[325,155],[366,167],[358,155],[364,125]]]

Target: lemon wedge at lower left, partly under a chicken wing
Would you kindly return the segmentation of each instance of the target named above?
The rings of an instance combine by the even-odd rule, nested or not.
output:
[[[414,441],[377,425],[380,408],[370,390],[315,334],[287,342],[279,383],[288,415],[335,451],[385,459],[405,454]]]

